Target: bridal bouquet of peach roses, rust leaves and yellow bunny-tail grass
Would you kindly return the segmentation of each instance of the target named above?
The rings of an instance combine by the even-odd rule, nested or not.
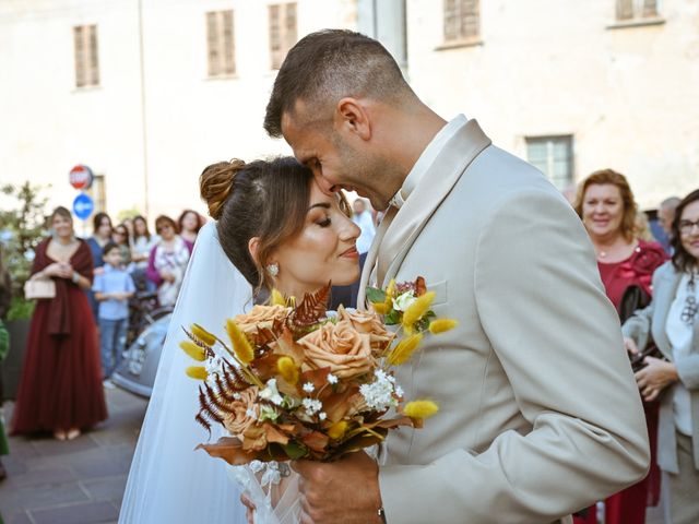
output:
[[[271,305],[226,321],[229,341],[198,324],[180,347],[202,381],[196,419],[227,437],[198,449],[232,465],[252,461],[332,461],[383,440],[391,428],[422,427],[430,401],[404,404],[391,368],[406,362],[427,332],[455,321],[435,319],[425,282],[370,288],[374,311],[329,312],[330,285],[299,305],[277,291]],[[386,325],[400,324],[396,332]],[[388,416],[393,408],[393,416]]]

